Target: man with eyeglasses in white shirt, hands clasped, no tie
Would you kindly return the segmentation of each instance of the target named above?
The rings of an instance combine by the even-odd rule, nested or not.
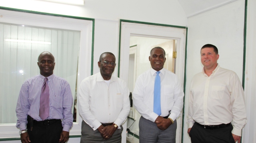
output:
[[[100,72],[80,84],[80,143],[121,143],[122,123],[130,111],[130,92],[125,81],[112,75],[115,62],[114,54],[102,53],[98,62]]]

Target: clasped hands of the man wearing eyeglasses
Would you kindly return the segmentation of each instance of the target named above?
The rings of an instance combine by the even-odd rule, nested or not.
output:
[[[100,127],[98,127],[98,131],[100,132],[100,135],[103,139],[109,139],[116,131],[116,127],[114,127],[113,125],[108,125],[105,127],[103,125],[100,125]]]

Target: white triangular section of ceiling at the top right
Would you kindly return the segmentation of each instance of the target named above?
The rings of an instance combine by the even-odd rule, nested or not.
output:
[[[236,0],[178,0],[187,17],[212,10],[234,1]]]

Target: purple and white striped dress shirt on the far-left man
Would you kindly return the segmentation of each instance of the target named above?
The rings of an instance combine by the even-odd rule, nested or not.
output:
[[[42,121],[39,117],[40,94],[44,83],[44,76],[37,75],[25,81],[20,89],[20,95],[16,106],[17,124],[20,131],[26,130],[27,116],[30,115],[36,121]],[[50,91],[50,111],[46,119],[61,119],[63,131],[69,131],[73,124],[72,104],[73,97],[69,83],[54,74],[47,81]]]

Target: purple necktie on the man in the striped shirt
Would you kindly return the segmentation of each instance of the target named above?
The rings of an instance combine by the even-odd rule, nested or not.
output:
[[[39,117],[42,120],[45,120],[49,117],[49,103],[50,103],[50,93],[49,93],[49,86],[46,83],[48,78],[44,78],[44,83],[41,90],[40,95],[40,108],[39,108]]]

